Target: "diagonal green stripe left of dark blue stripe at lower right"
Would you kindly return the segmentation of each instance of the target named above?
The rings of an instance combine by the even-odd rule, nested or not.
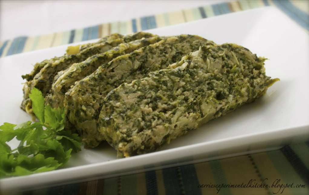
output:
[[[296,184],[304,184],[303,180],[294,171],[293,167],[291,166],[289,161],[286,159],[286,157],[282,154],[282,152],[280,150],[266,152],[266,154],[268,155],[268,157],[272,161],[274,167],[277,169],[277,171],[281,175],[281,178],[277,178],[277,179],[281,179],[281,183],[283,183],[283,182],[285,182],[284,184],[294,183],[295,185]],[[282,179],[284,181],[282,181]],[[272,185],[272,183],[270,185]],[[271,190],[276,192],[276,190],[279,190],[279,189],[271,187]],[[297,192],[298,192],[297,188],[289,188],[289,190],[293,194],[297,194]]]

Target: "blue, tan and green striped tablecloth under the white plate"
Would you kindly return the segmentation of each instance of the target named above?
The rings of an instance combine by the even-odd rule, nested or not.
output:
[[[277,6],[309,32],[308,1],[253,0],[150,15],[0,43],[0,56],[165,27],[230,12]],[[267,186],[268,185],[268,186]],[[309,141],[279,150],[189,164],[19,194],[309,194]]]

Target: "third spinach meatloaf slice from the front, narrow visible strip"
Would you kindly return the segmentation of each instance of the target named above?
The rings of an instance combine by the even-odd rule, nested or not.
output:
[[[163,38],[159,36],[137,39],[128,43],[119,44],[107,52],[89,57],[87,60],[72,64],[66,70],[60,71],[54,79],[50,93],[46,96],[45,102],[52,107],[63,107],[65,93],[76,81],[93,73],[100,65],[108,63],[117,56],[133,52],[136,49],[159,42]]]

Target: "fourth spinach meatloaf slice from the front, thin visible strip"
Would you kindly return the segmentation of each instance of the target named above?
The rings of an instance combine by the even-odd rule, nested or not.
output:
[[[117,35],[113,35],[109,37],[105,42],[103,40],[103,42],[99,42],[98,44],[94,44],[90,47],[85,46],[85,48],[82,51],[76,54],[65,55],[56,61],[45,64],[44,67],[41,68],[38,73],[36,73],[36,75],[33,77],[32,80],[25,82],[23,87],[24,97],[20,107],[27,113],[33,115],[32,102],[29,98],[29,93],[31,89],[33,88],[39,89],[42,92],[43,96],[45,97],[47,93],[49,93],[54,77],[57,75],[57,73],[59,71],[65,70],[72,64],[86,60],[88,57],[91,57],[95,54],[106,52],[121,43],[141,39],[142,37],[153,37],[153,36],[155,35],[145,32],[138,32],[133,35],[126,35],[126,36],[121,35],[120,38],[116,38]],[[35,69],[37,70],[38,68],[35,67]]]

